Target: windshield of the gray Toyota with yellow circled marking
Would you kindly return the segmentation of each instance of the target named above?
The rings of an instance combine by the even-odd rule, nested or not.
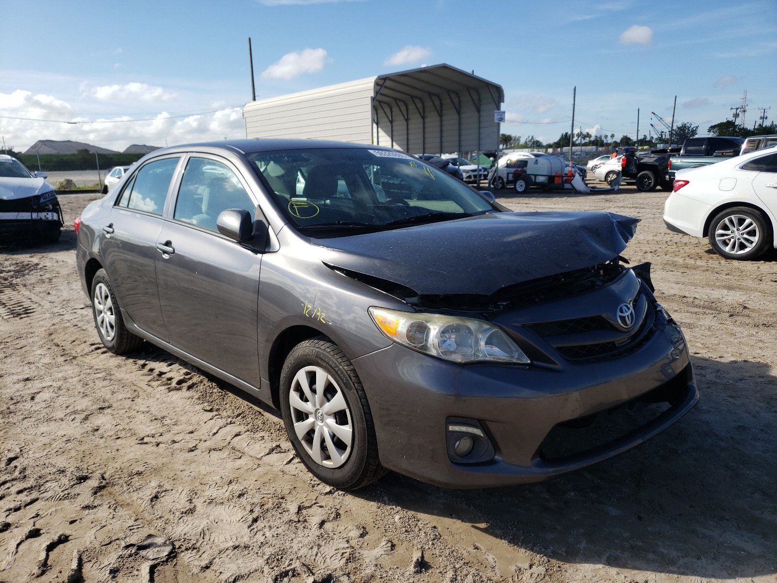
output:
[[[249,154],[277,203],[308,236],[377,231],[495,210],[474,190],[420,160],[368,148]],[[326,236],[332,236],[331,232]]]

